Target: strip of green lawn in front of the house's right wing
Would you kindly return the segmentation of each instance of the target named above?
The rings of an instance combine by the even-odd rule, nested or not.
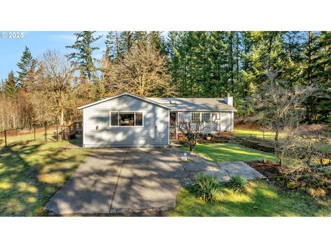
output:
[[[187,152],[188,147],[181,147],[183,152]],[[261,152],[256,149],[243,147],[242,145],[230,143],[203,143],[197,144],[194,152],[203,156],[209,161],[256,161],[268,158],[270,161],[277,161],[273,154]]]

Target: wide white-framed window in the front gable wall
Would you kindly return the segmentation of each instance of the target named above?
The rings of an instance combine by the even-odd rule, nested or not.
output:
[[[112,126],[142,126],[143,113],[142,112],[111,112],[110,125]]]

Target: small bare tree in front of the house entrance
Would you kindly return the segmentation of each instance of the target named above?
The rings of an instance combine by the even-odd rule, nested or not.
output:
[[[192,123],[190,119],[183,117],[179,121],[177,127],[183,134],[185,134],[186,138],[188,138],[188,145],[191,153],[204,130],[203,122],[198,121],[197,123]]]

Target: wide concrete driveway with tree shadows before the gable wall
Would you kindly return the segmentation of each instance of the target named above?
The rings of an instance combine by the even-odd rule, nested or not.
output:
[[[171,148],[95,149],[45,209],[57,215],[165,210],[176,205],[185,178]]]

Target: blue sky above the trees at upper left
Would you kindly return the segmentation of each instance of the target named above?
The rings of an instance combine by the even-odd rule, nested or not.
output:
[[[2,32],[1,32],[2,33]],[[8,34],[9,32],[6,32]],[[17,63],[21,59],[24,46],[30,48],[32,56],[37,58],[46,50],[58,50],[61,54],[69,54],[70,49],[66,45],[72,45],[76,38],[75,32],[23,32],[21,39],[9,39],[0,37],[0,79],[6,79],[10,70],[16,72]],[[94,58],[101,58],[105,50],[105,39],[107,32],[95,32],[95,35],[103,34],[103,37],[95,41],[94,45],[99,46],[100,50],[94,51]]]

